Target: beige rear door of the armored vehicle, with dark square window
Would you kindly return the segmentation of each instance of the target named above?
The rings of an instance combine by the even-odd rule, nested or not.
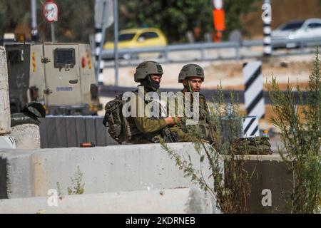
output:
[[[77,45],[44,45],[47,105],[80,105],[81,76]]]

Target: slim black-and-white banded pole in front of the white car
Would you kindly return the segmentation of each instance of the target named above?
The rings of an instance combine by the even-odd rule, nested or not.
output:
[[[264,56],[272,55],[272,38],[271,38],[271,21],[272,21],[272,6],[270,0],[264,0],[262,6],[263,14],[263,43]]]

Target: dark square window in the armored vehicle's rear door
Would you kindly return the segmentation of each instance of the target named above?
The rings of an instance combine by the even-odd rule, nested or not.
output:
[[[54,50],[55,68],[63,68],[65,66],[73,67],[75,64],[76,61],[74,48],[56,48]]]

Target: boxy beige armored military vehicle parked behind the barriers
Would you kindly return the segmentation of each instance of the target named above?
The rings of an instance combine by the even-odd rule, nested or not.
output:
[[[6,52],[11,113],[34,101],[49,115],[94,115],[102,109],[89,45],[12,43]]]

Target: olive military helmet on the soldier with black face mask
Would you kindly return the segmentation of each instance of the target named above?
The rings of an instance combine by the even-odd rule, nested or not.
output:
[[[139,83],[141,80],[152,74],[163,75],[163,73],[161,64],[154,61],[146,61],[136,68],[135,82]]]

